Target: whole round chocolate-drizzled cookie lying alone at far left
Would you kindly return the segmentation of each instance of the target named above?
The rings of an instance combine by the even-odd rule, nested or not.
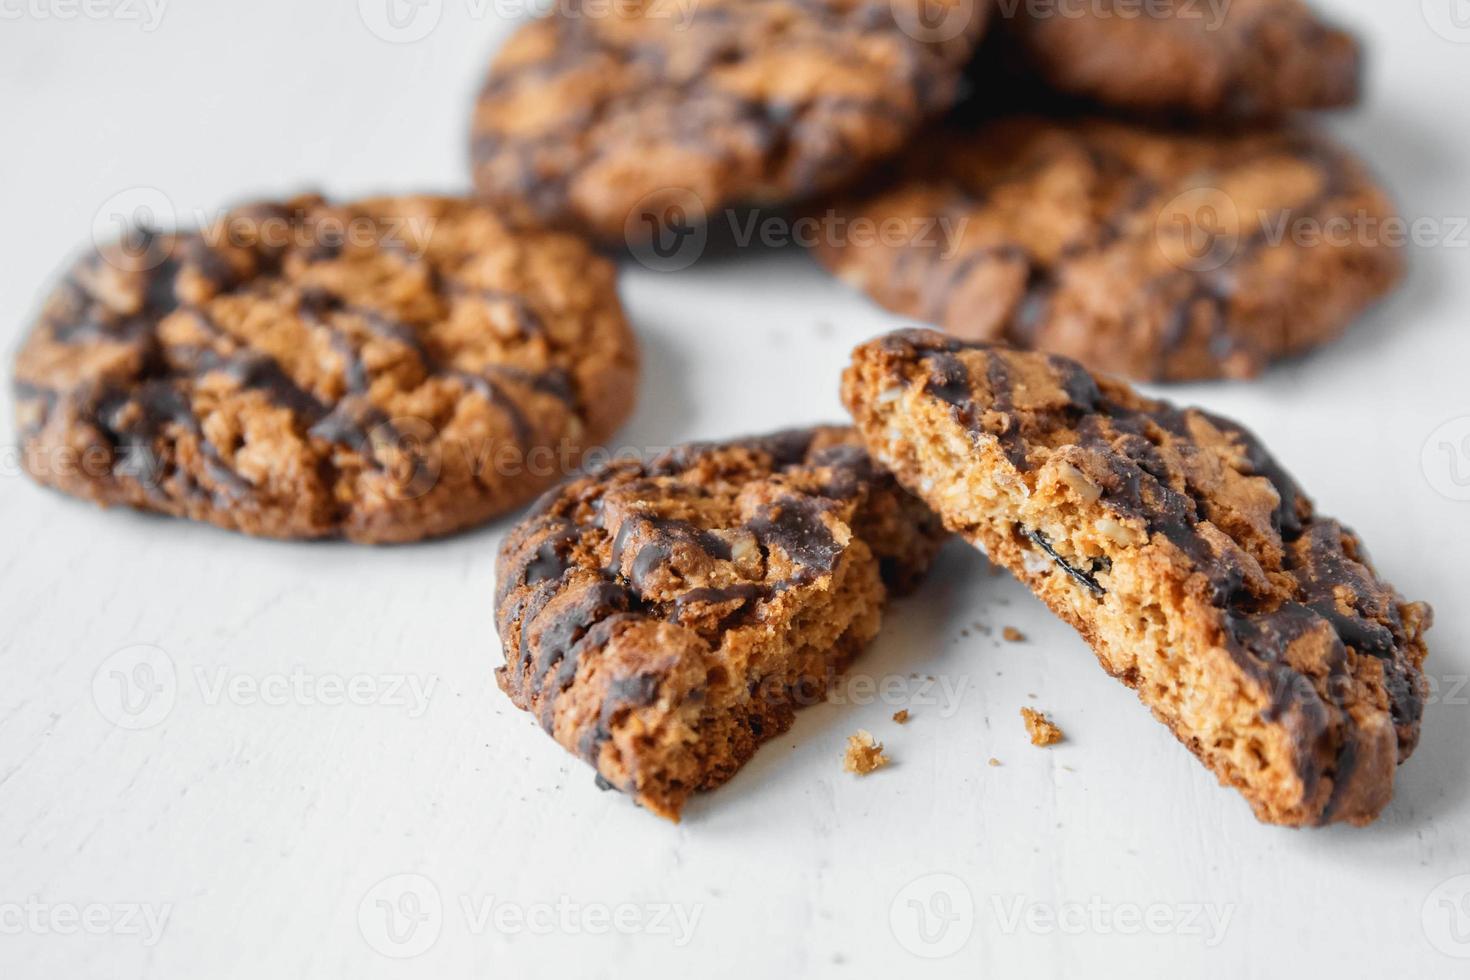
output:
[[[40,482],[272,538],[413,541],[575,472],[632,407],[610,263],[476,204],[316,197],[76,262],[15,367]]]

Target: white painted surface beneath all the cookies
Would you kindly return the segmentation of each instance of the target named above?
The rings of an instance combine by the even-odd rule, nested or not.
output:
[[[598,792],[495,689],[504,525],[392,550],[250,541],[44,492],[7,445],[0,976],[1466,976],[1470,502],[1436,486],[1454,492],[1470,454],[1430,436],[1470,416],[1470,18],[1451,19],[1470,10],[1323,3],[1373,51],[1369,104],[1333,126],[1438,244],[1410,248],[1408,285],[1344,342],[1175,394],[1254,426],[1439,607],[1439,696],[1376,826],[1258,826],[958,548],[894,610],[867,680],[666,824]],[[462,188],[470,100],[513,12],[428,0],[435,29],[391,44],[351,0],[119,19],[147,9],[0,0],[12,350],[129,188],[185,216],[310,187]],[[895,323],[795,251],[635,267],[623,291],[647,351],[623,445],[836,417],[845,353]],[[0,414],[12,432],[9,400]],[[883,679],[900,698],[861,686]],[[122,680],[154,692],[141,716],[119,714]],[[1022,705],[1067,742],[1030,748]],[[858,727],[895,760],[866,780],[839,768]]]

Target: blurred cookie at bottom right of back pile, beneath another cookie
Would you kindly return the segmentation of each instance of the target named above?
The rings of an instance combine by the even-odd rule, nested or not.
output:
[[[1142,381],[1254,376],[1338,336],[1402,270],[1388,197],[1292,128],[994,119],[831,213],[889,229],[816,248],[882,306]]]

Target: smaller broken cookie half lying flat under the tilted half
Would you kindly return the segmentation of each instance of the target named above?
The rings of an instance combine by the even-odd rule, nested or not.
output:
[[[600,785],[678,820],[823,699],[941,538],[851,429],[613,461],[501,547],[497,679]]]

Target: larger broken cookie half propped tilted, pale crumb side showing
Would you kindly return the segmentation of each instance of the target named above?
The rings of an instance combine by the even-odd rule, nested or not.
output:
[[[901,331],[844,401],[873,457],[1092,645],[1267,823],[1364,824],[1419,741],[1432,614],[1250,432],[1048,354]]]

